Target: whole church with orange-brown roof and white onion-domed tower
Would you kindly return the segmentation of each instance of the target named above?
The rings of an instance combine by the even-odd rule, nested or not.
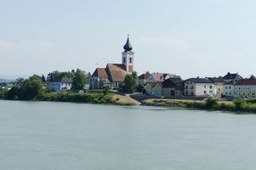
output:
[[[90,81],[90,89],[102,89],[103,86],[113,89],[123,83],[128,73],[134,72],[134,52],[129,38],[123,48],[121,64],[107,64],[105,68],[95,69]]]

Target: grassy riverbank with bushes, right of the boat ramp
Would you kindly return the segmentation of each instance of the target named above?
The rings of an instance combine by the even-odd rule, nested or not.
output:
[[[202,110],[232,111],[237,113],[256,114],[256,99],[235,99],[234,101],[159,99],[151,98],[142,101],[144,106],[172,106]]]

